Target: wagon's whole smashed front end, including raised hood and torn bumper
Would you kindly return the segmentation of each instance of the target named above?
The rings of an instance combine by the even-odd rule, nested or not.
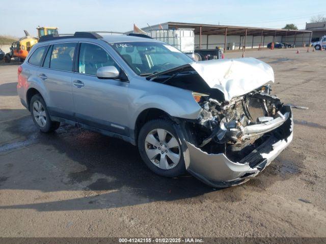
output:
[[[291,107],[271,95],[274,71],[256,58],[194,62],[147,79],[194,91],[201,112],[178,118],[176,131],[186,169],[210,186],[256,176],[292,140]]]

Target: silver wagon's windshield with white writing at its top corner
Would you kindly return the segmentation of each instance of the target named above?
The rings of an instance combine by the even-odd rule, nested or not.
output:
[[[138,75],[151,75],[194,62],[178,49],[158,42],[119,42],[110,45]]]

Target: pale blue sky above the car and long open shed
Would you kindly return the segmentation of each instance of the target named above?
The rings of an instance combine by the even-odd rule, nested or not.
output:
[[[59,33],[117,31],[167,21],[282,28],[294,23],[305,28],[314,15],[326,16],[324,0],[293,1],[178,1],[178,0],[2,0],[0,35],[36,35],[36,27],[57,26]]]

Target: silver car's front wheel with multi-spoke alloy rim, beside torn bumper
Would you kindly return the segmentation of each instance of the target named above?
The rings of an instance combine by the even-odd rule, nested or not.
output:
[[[171,120],[148,121],[139,133],[138,149],[143,161],[154,173],[165,177],[185,173],[180,139]]]

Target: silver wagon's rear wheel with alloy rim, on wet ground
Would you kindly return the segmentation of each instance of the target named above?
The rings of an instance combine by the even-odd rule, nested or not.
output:
[[[52,121],[50,119],[46,104],[40,94],[36,94],[32,97],[30,102],[30,110],[34,124],[40,129],[41,132],[52,132],[60,127],[60,122]]]

